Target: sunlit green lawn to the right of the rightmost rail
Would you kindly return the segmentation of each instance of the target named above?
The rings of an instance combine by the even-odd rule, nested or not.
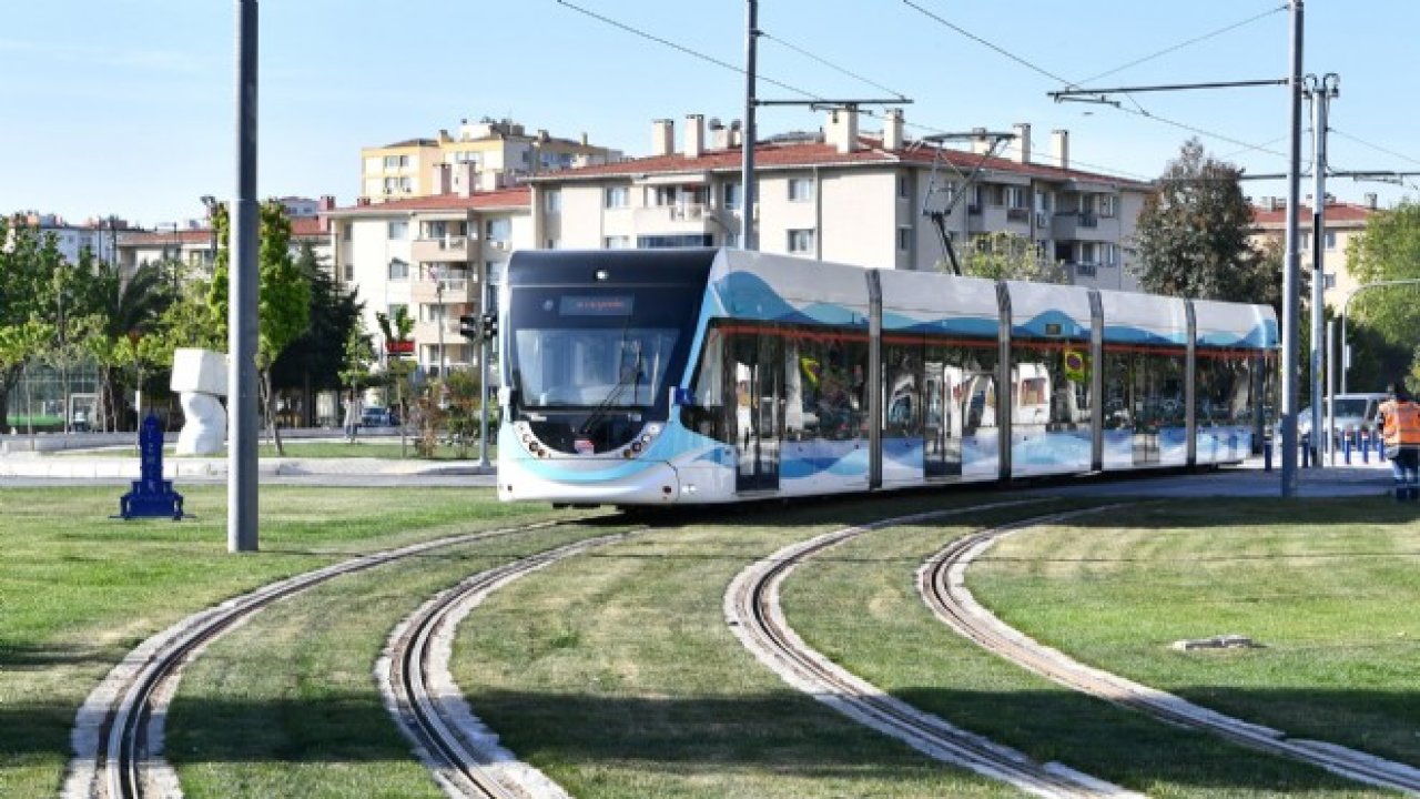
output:
[[[968,572],[968,584],[1007,623],[1089,664],[1420,766],[1414,506],[1382,498],[1139,506],[1012,536]],[[1234,633],[1261,647],[1170,648]]]

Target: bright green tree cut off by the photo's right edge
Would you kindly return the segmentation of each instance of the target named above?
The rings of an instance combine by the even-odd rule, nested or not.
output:
[[[1370,215],[1366,229],[1346,247],[1346,263],[1358,284],[1382,280],[1420,281],[1420,205],[1404,200],[1399,206]],[[1414,343],[1420,334],[1420,283],[1370,289],[1356,296],[1349,314],[1356,321],[1352,350],[1360,355],[1359,384],[1380,387],[1393,375],[1416,368]],[[1348,321],[1349,324],[1349,321]],[[1365,336],[1375,337],[1382,348],[1356,347]]]

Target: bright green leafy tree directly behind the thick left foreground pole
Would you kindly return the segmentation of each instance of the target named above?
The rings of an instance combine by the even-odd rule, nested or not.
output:
[[[209,286],[209,304],[222,320],[223,337],[226,337],[229,297],[227,280],[230,273],[230,253],[226,242],[230,227],[230,215],[226,203],[217,205],[212,213],[212,222],[217,240],[222,245],[213,264],[212,284]],[[285,455],[281,444],[281,434],[275,424],[275,398],[271,391],[271,365],[281,353],[285,351],[311,323],[311,284],[295,266],[291,257],[291,220],[285,216],[285,208],[274,199],[261,203],[257,249],[257,357],[256,367],[260,380],[261,408],[266,414],[267,429],[275,439],[278,455]],[[230,388],[236,392],[236,387]]]

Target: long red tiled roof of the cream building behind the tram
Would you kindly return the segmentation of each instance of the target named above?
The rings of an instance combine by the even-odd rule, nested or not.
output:
[[[865,149],[853,152],[839,152],[836,146],[825,142],[767,142],[754,149],[754,162],[758,169],[801,168],[825,165],[853,165],[853,163],[917,163],[932,165],[936,158],[933,148],[906,146],[895,151],[885,151],[878,139],[862,139]],[[532,182],[577,181],[582,178],[605,178],[611,175],[642,175],[642,173],[676,173],[676,172],[721,172],[741,169],[740,149],[711,149],[704,151],[700,158],[686,158],[682,154],[653,155],[648,158],[630,158],[615,163],[598,163],[564,169],[554,175],[534,176]],[[944,149],[946,161],[961,171],[970,171],[981,162],[981,156],[957,149]],[[1150,189],[1147,182],[1103,175],[1099,172],[1082,172],[1079,169],[1061,169],[1045,163],[1020,163],[1007,158],[988,158],[981,163],[983,169],[997,172],[1012,172],[1051,181],[1098,181],[1119,183],[1140,191]]]

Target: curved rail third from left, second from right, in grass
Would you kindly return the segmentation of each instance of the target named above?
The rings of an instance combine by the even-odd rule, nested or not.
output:
[[[885,694],[812,650],[794,633],[780,610],[780,586],[798,563],[855,536],[893,525],[1012,508],[1030,502],[1038,500],[1000,502],[900,516],[791,545],[736,576],[726,591],[726,617],[746,648],[778,672],[785,682],[932,758],[1008,782],[1037,796],[1137,796],[1059,763],[1037,763],[1021,752],[966,732],[940,717]]]

